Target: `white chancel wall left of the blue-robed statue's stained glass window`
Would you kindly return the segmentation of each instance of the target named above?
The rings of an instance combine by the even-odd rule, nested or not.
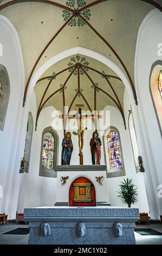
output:
[[[51,113],[54,108],[48,107],[42,111],[37,131],[35,131],[36,98],[34,90],[30,100],[29,111],[33,115],[34,131],[31,142],[29,173],[21,174],[18,212],[23,212],[24,208],[27,207],[51,206],[56,201],[56,179],[39,176],[42,132],[44,128],[51,126],[51,121],[53,120],[51,119]]]

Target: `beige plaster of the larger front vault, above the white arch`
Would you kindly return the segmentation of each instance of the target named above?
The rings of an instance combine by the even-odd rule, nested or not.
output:
[[[70,3],[69,7],[73,9],[73,1],[56,2],[64,5]],[[86,1],[87,4],[92,2],[91,0]],[[18,3],[2,9],[0,13],[8,17],[20,36],[26,81],[37,68],[56,53],[71,47],[83,46],[104,54],[124,69],[129,76],[133,89],[134,53],[138,29],[146,14],[153,8],[152,5],[140,0],[101,1],[101,3],[90,7],[89,13],[83,15],[83,11],[81,12],[90,26],[98,32],[98,35],[94,33],[92,27],[84,25],[83,20],[80,24],[77,21],[74,24],[77,17],[72,20],[71,26],[67,25],[63,28],[68,15],[63,13],[62,8],[51,4],[40,2]],[[74,27],[72,25],[79,26]],[[61,27],[62,30],[57,34]],[[50,43],[54,35],[57,36]],[[109,49],[108,44],[105,44],[99,38],[99,35],[113,47],[117,55]],[[38,60],[46,46],[48,46],[47,50]],[[35,70],[33,69],[34,65],[36,65]],[[133,93],[136,99],[135,91]]]

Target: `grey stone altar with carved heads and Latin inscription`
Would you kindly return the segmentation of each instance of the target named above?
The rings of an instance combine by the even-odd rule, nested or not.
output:
[[[30,245],[132,245],[139,209],[113,206],[24,209]],[[50,229],[49,235],[42,224]]]

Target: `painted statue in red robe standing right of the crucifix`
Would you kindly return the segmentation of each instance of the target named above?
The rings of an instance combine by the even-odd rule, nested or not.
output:
[[[92,164],[100,164],[101,160],[101,139],[98,132],[93,132],[92,139],[90,139],[90,151],[92,155]]]

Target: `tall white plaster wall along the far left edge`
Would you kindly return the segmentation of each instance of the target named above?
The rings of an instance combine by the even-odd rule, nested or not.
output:
[[[0,64],[7,68],[10,79],[10,97],[3,132],[0,131],[0,212],[14,218],[20,186],[21,117],[24,90],[24,66],[20,41],[11,22],[0,15],[0,43],[3,52]],[[20,140],[19,140],[19,139]],[[19,152],[19,153],[18,153]]]

